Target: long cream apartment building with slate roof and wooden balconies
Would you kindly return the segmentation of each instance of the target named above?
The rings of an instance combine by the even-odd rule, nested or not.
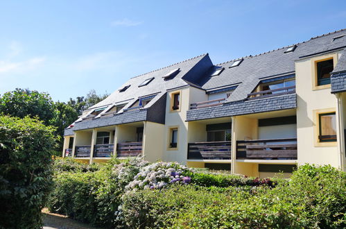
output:
[[[143,155],[247,176],[346,170],[346,30],[219,65],[208,54],[131,78],[64,132],[63,156]]]

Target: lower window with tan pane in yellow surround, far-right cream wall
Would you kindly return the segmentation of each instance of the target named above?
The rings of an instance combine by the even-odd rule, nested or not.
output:
[[[335,112],[318,114],[319,142],[336,142],[336,114]]]

